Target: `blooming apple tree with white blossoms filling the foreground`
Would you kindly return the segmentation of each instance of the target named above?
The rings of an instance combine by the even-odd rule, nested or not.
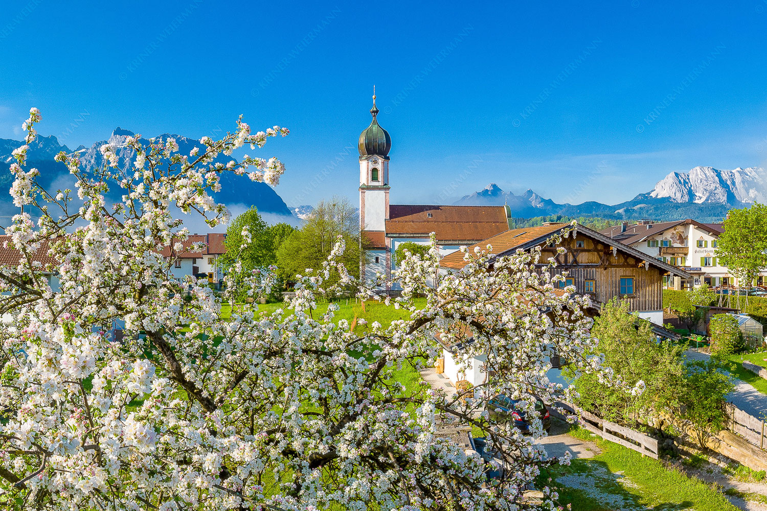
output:
[[[32,109],[27,143],[39,120]],[[254,305],[223,316],[202,282],[173,279],[188,234],[178,211],[225,221],[211,195],[224,172],[275,184],[284,168],[274,158],[222,156],[287,134],[278,126],[252,133],[240,119],[189,155],[172,138],[143,146],[130,137],[124,147],[103,146],[95,172],[61,153],[75,191],[42,188],[38,171],[26,169],[27,146],[14,152],[11,195],[24,212],[3,241],[4,260],[15,260],[0,268],[2,506],[520,509],[533,505],[524,493],[542,467],[567,463],[535,444],[544,433],[534,396],[565,398],[546,378],[549,356],[583,371],[598,371],[598,361],[587,355],[588,301],[571,288],[555,292],[555,262],[538,250],[466,253],[466,267],[453,273],[437,269],[436,247],[408,255],[394,276],[403,294],[386,301],[409,319],[356,329],[333,304],[316,311],[319,293],[332,293],[324,283],[352,283],[337,263],[342,242],[274,313]],[[130,149],[130,162],[120,164],[117,149]],[[268,269],[239,271],[227,277],[231,296],[242,296],[235,287],[268,293]],[[185,293],[192,300],[183,306]],[[459,395],[399,382],[401,369],[442,355],[437,338],[460,342],[464,363],[486,356],[486,382]],[[532,435],[484,411],[500,393],[535,415]],[[440,435],[446,424],[479,428],[494,458]],[[490,480],[492,467],[501,475]],[[553,508],[555,491],[538,489],[536,505]]]

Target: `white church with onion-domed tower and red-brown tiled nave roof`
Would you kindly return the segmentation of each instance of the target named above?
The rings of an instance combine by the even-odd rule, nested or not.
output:
[[[394,252],[399,244],[412,241],[430,244],[433,232],[443,256],[508,231],[507,206],[397,205],[390,204],[389,151],[391,137],[378,124],[376,96],[373,95],[373,120],[360,133],[360,240],[363,254],[360,276],[367,282],[377,274],[387,277],[380,291],[397,291],[390,283],[395,269]],[[395,170],[395,175],[397,171]],[[395,179],[395,184],[397,180]]]

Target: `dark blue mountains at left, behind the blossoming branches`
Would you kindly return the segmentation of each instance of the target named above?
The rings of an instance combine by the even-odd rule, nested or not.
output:
[[[103,163],[103,156],[99,150],[100,146],[110,143],[117,147],[117,156],[120,157],[120,167],[123,165],[132,165],[136,156],[133,149],[125,146],[125,139],[128,136],[134,136],[135,133],[128,129],[117,127],[114,129],[109,139],[94,142],[91,147],[79,146],[74,151],[67,146],[61,145],[55,136],[38,136],[34,142],[29,144],[27,150],[26,169],[37,168],[40,171],[38,182],[45,188],[52,189],[54,192],[58,188],[74,188],[74,178],[63,163],[54,162],[54,156],[60,151],[67,153],[80,153],[81,167],[87,172],[98,169]],[[159,136],[162,139],[173,137],[179,145],[181,154],[189,152],[199,147],[202,149],[197,139],[189,139],[186,136],[172,135],[163,133]],[[150,141],[140,139],[140,142],[147,146]],[[11,153],[17,147],[23,145],[23,142],[12,139],[0,139],[0,162],[10,163]],[[227,163],[232,157],[219,155],[216,162]],[[12,215],[18,212],[15,208],[11,196],[6,190],[10,188],[12,175],[10,172],[0,172],[0,213],[2,215]],[[243,205],[245,208],[255,205],[259,212],[272,213],[275,215],[290,216],[292,213],[285,205],[285,201],[272,189],[271,186],[263,182],[252,182],[247,176],[235,175],[233,172],[224,172],[221,179],[221,192],[213,194],[217,202],[225,205]],[[114,191],[110,192],[110,198],[117,199],[122,195],[121,188],[114,186]],[[114,195],[114,197],[112,197]],[[119,200],[119,199],[118,199]]]

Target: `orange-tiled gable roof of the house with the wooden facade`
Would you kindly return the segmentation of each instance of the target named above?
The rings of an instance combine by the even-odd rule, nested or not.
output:
[[[551,234],[560,231],[562,228],[567,227],[568,224],[549,224],[542,225],[534,228],[512,229],[506,231],[497,236],[490,237],[485,241],[480,241],[477,244],[469,247],[469,251],[473,252],[474,247],[479,247],[481,250],[486,250],[488,244],[492,245],[491,254],[495,256],[511,255],[518,250],[526,250],[536,245],[542,244]],[[620,241],[611,239],[610,237],[602,234],[598,231],[592,231],[589,228],[578,224],[578,235],[584,234],[597,241],[601,241],[604,244],[608,244],[614,247],[617,251],[621,251],[624,254],[629,254],[631,257],[635,257],[638,260],[647,261],[648,264],[654,267],[659,267],[672,275],[679,275],[683,279],[690,279],[692,276],[684,270],[675,267],[671,264],[663,263],[663,261],[656,259],[655,257],[648,257],[647,254],[637,251],[636,248],[630,247],[627,244],[623,244]],[[445,268],[463,268],[466,266],[466,261],[463,260],[463,252],[457,251],[453,254],[448,254],[439,260],[439,266]]]

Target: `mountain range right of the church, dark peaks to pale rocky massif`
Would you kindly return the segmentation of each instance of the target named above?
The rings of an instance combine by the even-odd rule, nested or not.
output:
[[[528,189],[522,195],[504,192],[490,183],[486,188],[464,195],[456,205],[509,205],[512,216],[531,218],[546,215],[601,217],[613,219],[651,218],[721,221],[732,208],[748,207],[767,198],[767,173],[761,167],[719,170],[695,167],[690,172],[671,172],[647,193],[616,205],[587,201],[558,204]]]

